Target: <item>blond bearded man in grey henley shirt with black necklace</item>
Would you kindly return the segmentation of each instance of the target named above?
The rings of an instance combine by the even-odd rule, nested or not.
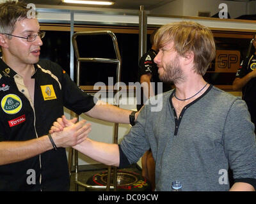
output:
[[[203,78],[215,55],[211,31],[195,22],[163,25],[155,43],[159,77],[175,84],[157,96],[163,108],[152,112],[150,101],[143,106],[120,145],[87,138],[74,148],[119,167],[136,163],[150,148],[157,191],[170,191],[176,180],[182,191],[255,191],[256,143],[246,104]]]

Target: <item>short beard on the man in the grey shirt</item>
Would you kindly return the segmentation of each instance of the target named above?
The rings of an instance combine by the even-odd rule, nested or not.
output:
[[[180,69],[180,62],[178,58],[170,61],[163,70],[163,73],[159,73],[159,79],[162,82],[172,82],[173,84],[184,82],[184,74],[182,69]]]

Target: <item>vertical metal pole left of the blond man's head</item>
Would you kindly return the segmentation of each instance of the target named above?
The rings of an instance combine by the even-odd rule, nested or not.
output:
[[[139,59],[147,52],[147,17],[144,6],[140,6],[139,13]]]

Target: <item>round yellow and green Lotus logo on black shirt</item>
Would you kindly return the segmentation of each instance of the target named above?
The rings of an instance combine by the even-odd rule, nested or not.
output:
[[[8,94],[2,99],[1,107],[4,112],[8,114],[15,114],[22,108],[22,101],[19,96],[15,94]]]

